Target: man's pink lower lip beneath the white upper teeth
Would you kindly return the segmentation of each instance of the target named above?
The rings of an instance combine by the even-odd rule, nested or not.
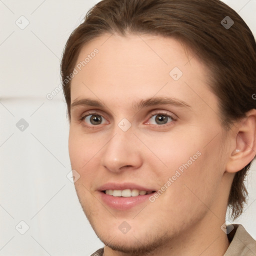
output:
[[[153,194],[150,193],[138,196],[119,197],[105,194],[102,191],[100,191],[99,193],[102,201],[105,204],[107,204],[111,208],[118,210],[127,210],[134,207],[135,205],[141,204],[145,201],[149,201],[149,197]]]

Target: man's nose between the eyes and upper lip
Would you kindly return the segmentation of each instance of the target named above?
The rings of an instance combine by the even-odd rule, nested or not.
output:
[[[132,170],[142,165],[141,150],[131,130],[117,130],[102,150],[101,164],[109,171]]]

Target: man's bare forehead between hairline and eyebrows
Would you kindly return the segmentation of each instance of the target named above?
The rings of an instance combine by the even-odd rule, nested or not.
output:
[[[216,100],[207,67],[170,37],[104,34],[82,47],[75,69],[71,102],[82,95],[104,102],[169,95],[200,106]]]

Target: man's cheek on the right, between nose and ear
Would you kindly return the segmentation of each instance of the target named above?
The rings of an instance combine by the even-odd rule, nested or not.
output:
[[[158,157],[158,160],[148,158],[151,159],[149,165],[155,172],[155,180],[159,188],[172,187],[166,189],[166,194],[175,194],[174,198],[180,198],[185,193],[186,197],[193,199],[196,197],[194,192],[207,200],[206,197],[212,195],[221,180],[224,167],[221,162],[221,138],[216,137],[207,144],[205,141],[210,141],[214,135],[197,133],[189,132],[187,136],[185,133],[174,136],[165,134],[157,140],[147,140],[148,147]]]

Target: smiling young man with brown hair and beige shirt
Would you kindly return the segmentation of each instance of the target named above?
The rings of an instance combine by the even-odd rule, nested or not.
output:
[[[102,0],[61,74],[93,255],[256,255],[241,225],[254,159],[255,39],[218,0]]]

